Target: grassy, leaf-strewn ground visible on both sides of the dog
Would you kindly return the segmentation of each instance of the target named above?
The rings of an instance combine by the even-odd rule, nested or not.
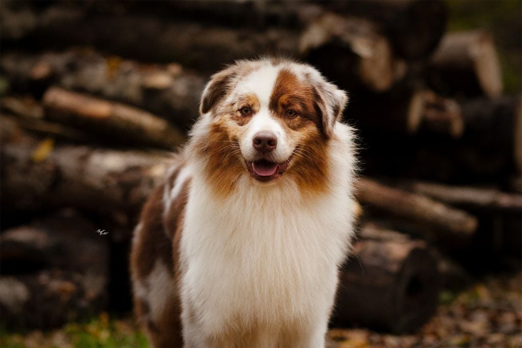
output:
[[[436,315],[412,335],[367,329],[331,329],[330,346],[363,347],[522,347],[522,272],[485,277],[454,294],[443,292]],[[100,314],[58,330],[0,334],[0,347],[148,347],[131,317]]]

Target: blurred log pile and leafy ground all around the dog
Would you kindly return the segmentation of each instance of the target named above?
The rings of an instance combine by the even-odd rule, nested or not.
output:
[[[128,251],[209,76],[349,91],[361,206],[331,346],[522,346],[522,2],[0,2],[0,346],[147,346]]]

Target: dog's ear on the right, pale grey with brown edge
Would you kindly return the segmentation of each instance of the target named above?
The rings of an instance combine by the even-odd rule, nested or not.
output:
[[[342,116],[342,111],[348,102],[348,95],[323,78],[314,84],[314,94],[317,111],[323,120],[323,133],[329,138],[334,132],[335,123]]]

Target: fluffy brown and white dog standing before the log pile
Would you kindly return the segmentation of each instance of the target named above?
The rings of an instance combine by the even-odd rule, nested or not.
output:
[[[348,97],[314,67],[242,60],[213,75],[131,253],[156,347],[324,347],[353,236]]]

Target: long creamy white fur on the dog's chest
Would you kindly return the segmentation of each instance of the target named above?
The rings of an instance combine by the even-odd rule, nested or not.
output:
[[[306,201],[292,182],[248,180],[219,201],[196,176],[187,202],[182,291],[215,333],[230,321],[271,326],[327,311],[351,236],[343,185]]]

